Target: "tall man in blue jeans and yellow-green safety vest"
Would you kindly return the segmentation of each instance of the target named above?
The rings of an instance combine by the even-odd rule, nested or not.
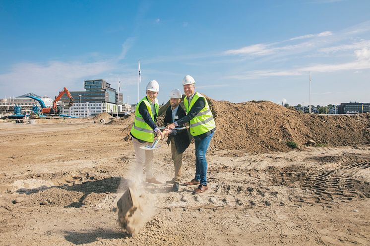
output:
[[[198,185],[193,194],[203,193],[207,186],[207,160],[206,152],[209,143],[216,130],[216,124],[206,98],[195,92],[195,80],[190,75],[183,79],[183,88],[186,97],[184,98],[186,116],[167,126],[174,129],[190,122],[190,134],[195,142],[195,177],[184,185]],[[166,130],[166,134],[169,131]]]

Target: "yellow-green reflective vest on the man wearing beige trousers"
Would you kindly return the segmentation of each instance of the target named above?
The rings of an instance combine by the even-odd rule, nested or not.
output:
[[[157,120],[156,118],[154,118],[151,102],[149,102],[146,97],[142,98],[141,101],[139,101],[139,103],[137,103],[136,105],[135,119],[133,120],[131,134],[137,139],[140,139],[146,142],[153,142],[154,141],[154,131],[148,124],[146,124],[143,117],[139,113],[139,106],[142,101],[145,103],[146,108],[148,109],[148,112],[150,116],[152,117],[152,120],[154,122]],[[157,98],[155,99],[154,107],[155,107],[156,115],[158,116],[159,104],[158,104]]]

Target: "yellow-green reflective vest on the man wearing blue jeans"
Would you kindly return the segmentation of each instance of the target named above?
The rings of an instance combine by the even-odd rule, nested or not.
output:
[[[194,105],[198,98],[204,98],[203,95],[195,93],[190,101],[190,105],[187,98],[184,98],[184,106],[186,113],[189,113],[191,107]],[[192,136],[198,136],[200,134],[206,133],[216,127],[215,120],[213,119],[213,114],[209,108],[207,99],[204,98],[205,106],[200,112],[190,120],[190,134]]]

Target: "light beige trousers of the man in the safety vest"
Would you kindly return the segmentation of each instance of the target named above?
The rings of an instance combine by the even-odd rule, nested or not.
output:
[[[153,160],[153,150],[145,150],[140,148],[141,146],[152,145],[153,143],[145,142],[144,144],[140,143],[137,139],[132,138],[133,148],[135,149],[136,156],[136,174],[142,174],[143,166],[145,164],[145,178],[153,178],[152,170],[152,160]]]

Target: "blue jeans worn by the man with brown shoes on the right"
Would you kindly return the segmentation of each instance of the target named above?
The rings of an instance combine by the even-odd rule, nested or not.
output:
[[[207,185],[207,159],[205,154],[214,132],[204,139],[194,137],[195,142],[195,180],[200,180],[201,185]]]

